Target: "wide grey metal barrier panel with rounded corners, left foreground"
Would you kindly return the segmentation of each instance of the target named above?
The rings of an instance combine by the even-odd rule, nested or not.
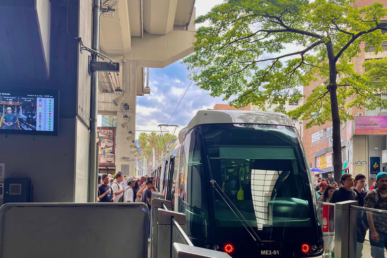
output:
[[[143,203],[6,204],[0,215],[2,258],[148,257]]]

